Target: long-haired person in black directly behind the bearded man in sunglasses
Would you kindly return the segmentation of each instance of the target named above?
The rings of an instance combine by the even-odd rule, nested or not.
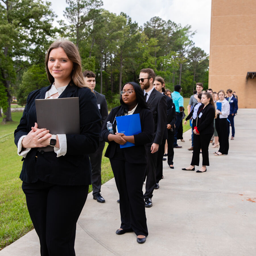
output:
[[[154,81],[154,88],[158,91],[161,92],[162,94],[164,94],[164,92],[166,91],[165,89],[165,82],[164,79],[160,76],[157,76],[155,81]],[[159,146],[158,149],[158,158],[157,158],[157,164],[156,164],[156,187],[155,189],[157,189],[157,187],[159,188],[159,181],[160,179],[162,179],[163,177],[163,161],[162,158],[164,156],[164,147],[165,147],[165,141],[169,138],[168,137],[168,130],[170,130],[170,128],[174,125],[175,121],[176,121],[176,112],[173,113],[173,102],[172,102],[172,98],[168,97],[166,94],[164,94],[166,96],[166,102],[167,102],[167,119],[166,119],[166,130],[165,130],[165,134],[163,137],[163,143],[161,144],[161,146]],[[173,117],[175,115],[175,118]],[[173,120],[174,119],[174,120]],[[172,124],[170,124],[172,123]],[[170,125],[168,125],[170,124]],[[168,129],[169,127],[169,129]],[[173,140],[172,140],[173,141]],[[170,151],[173,151],[173,146],[170,146]],[[169,166],[171,165],[173,167],[173,155],[168,156],[168,164]],[[172,157],[172,159],[171,159]]]

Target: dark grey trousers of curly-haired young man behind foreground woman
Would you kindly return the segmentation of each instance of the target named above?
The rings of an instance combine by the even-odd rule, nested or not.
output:
[[[102,152],[105,147],[105,141],[100,141],[97,151],[90,154],[90,161],[92,165],[92,195],[100,193],[101,188],[101,160]]]

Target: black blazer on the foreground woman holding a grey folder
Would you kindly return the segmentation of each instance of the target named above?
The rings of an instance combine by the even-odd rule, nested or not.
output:
[[[50,88],[51,86],[44,87],[28,95],[20,124],[14,132],[16,145],[20,137],[27,135],[37,122],[35,99],[44,99]],[[87,154],[97,150],[101,133],[101,117],[96,96],[89,88],[71,86],[70,83],[59,98],[69,97],[79,97],[80,134],[66,135],[65,156],[56,157],[55,152],[38,152],[38,148],[32,148],[26,158],[22,159],[22,181],[34,183],[40,179],[59,185],[91,184],[91,165]]]

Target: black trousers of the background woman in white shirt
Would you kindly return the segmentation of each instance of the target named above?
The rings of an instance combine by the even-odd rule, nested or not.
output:
[[[220,118],[219,115],[215,120],[216,131],[219,136],[220,149],[222,154],[228,154],[229,142],[228,142],[228,130],[229,122],[226,118]]]

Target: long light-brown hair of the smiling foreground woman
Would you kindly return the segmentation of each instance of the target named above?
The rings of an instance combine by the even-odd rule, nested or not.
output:
[[[49,49],[47,50],[46,56],[45,56],[45,66],[46,66],[46,74],[48,77],[49,82],[52,84],[54,82],[54,77],[51,75],[49,69],[48,69],[48,60],[49,60],[49,54],[52,49],[62,48],[65,53],[67,54],[67,57],[73,62],[73,71],[71,74],[71,85],[76,85],[77,87],[88,87],[86,86],[82,74],[82,64],[81,64],[81,58],[79,54],[79,50],[77,46],[75,46],[72,42],[68,40],[57,40],[53,42]]]

